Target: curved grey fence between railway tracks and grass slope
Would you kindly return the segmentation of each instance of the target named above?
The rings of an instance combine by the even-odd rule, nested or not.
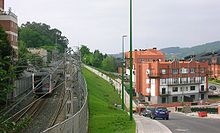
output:
[[[43,131],[43,133],[87,133],[88,132],[88,91],[87,84],[85,79],[79,76],[80,80],[78,80],[79,88],[82,89],[83,96],[85,96],[85,100],[82,108],[72,117],[66,119],[65,121],[54,125],[53,127],[48,128]]]

